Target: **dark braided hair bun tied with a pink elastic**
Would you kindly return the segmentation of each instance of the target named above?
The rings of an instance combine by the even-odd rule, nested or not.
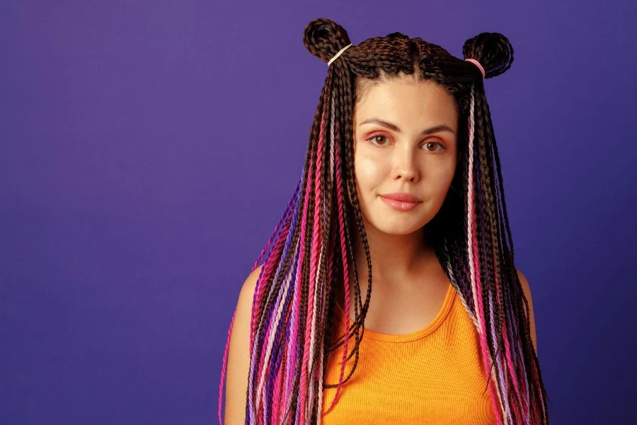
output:
[[[484,78],[503,74],[513,63],[513,46],[500,33],[480,33],[462,46],[465,59],[475,59],[484,68]]]

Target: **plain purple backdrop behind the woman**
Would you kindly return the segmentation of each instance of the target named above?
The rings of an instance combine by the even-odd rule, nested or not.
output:
[[[0,4],[0,423],[217,423],[326,77],[319,17],[457,57],[510,39],[486,91],[551,423],[634,419],[634,2],[219,3]]]

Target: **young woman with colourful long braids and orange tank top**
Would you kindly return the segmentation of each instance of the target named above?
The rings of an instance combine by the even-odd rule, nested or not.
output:
[[[219,421],[227,361],[226,425],[548,424],[483,86],[510,42],[481,33],[461,60],[316,19],[304,44],[327,78],[239,295]]]

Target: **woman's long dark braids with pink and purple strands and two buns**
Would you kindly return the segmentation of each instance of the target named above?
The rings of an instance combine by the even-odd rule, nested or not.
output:
[[[347,32],[325,18],[306,26],[303,41],[324,62],[350,44]],[[462,54],[483,66],[484,78],[503,74],[513,62],[512,46],[500,33],[466,40]],[[401,33],[352,45],[328,68],[302,175],[253,266],[255,271],[265,257],[252,305],[246,424],[320,424],[355,371],[372,290],[372,262],[355,189],[352,116],[366,81],[386,81],[399,73],[446,88],[457,102],[459,123],[466,123],[459,125],[452,190],[425,225],[425,237],[478,331],[498,424],[549,424],[548,396],[532,344],[529,305],[515,268],[481,70],[438,45]],[[356,240],[367,260],[364,302],[354,263]],[[355,283],[355,319],[335,339],[339,287],[345,288],[345,312],[350,311],[349,271]],[[219,385],[219,421],[233,324],[234,316]],[[328,354],[340,345],[339,381],[324,383]],[[355,356],[355,361],[344,376],[348,346],[353,346],[348,358]],[[321,412],[324,387],[337,390],[331,407]]]

